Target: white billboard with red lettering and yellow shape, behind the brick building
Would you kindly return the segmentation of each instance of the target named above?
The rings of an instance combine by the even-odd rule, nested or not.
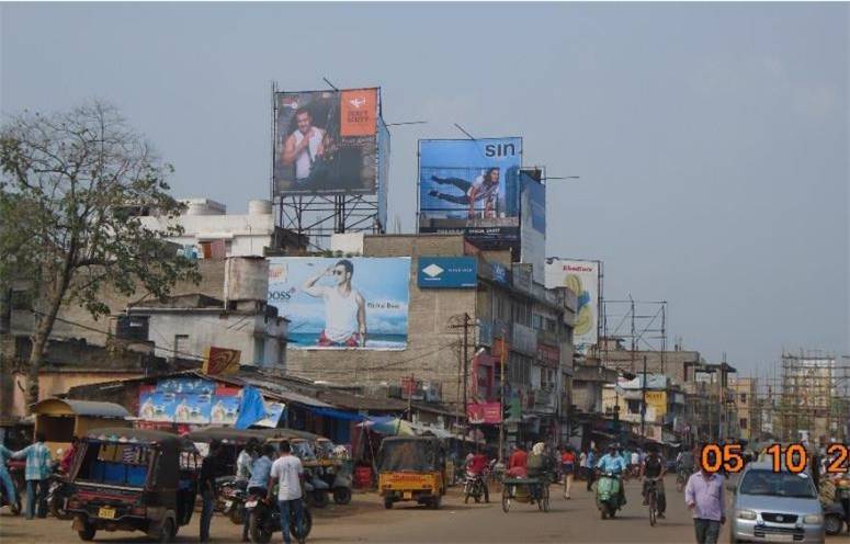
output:
[[[578,297],[573,343],[585,353],[599,331],[599,262],[547,259],[546,288],[569,287]]]

